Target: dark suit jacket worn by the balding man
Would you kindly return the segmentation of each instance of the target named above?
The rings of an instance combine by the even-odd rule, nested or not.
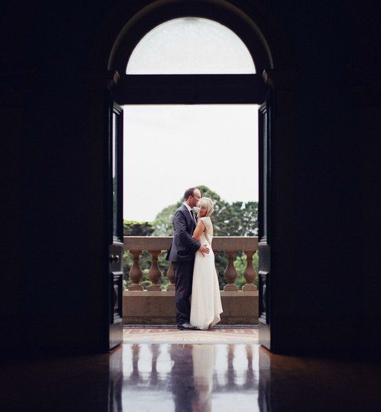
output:
[[[167,260],[171,262],[194,260],[195,253],[201,244],[192,238],[196,225],[184,203],[175,211],[172,224],[173,240],[167,254]]]

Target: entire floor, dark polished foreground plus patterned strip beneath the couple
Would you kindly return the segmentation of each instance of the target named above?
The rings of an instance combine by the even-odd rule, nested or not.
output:
[[[134,328],[110,354],[9,360],[0,410],[381,411],[378,363],[276,356],[255,328],[195,334]]]

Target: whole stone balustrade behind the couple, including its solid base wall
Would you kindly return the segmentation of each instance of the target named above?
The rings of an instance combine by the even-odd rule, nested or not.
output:
[[[167,277],[170,284],[167,290],[162,290],[158,281],[162,273],[158,267],[158,255],[167,251],[171,245],[171,237],[155,236],[125,236],[124,249],[133,257],[130,268],[132,284],[123,292],[123,322],[127,324],[173,324],[175,323],[175,278],[172,265],[169,266]],[[224,251],[228,265],[219,276],[225,277],[227,284],[221,290],[223,314],[221,323],[248,324],[258,323],[258,291],[254,285],[256,271],[253,257],[258,250],[257,237],[225,237],[213,238],[213,251],[217,255]],[[140,280],[143,271],[139,266],[139,256],[143,251],[151,255],[151,267],[148,277],[151,284],[143,290]],[[247,257],[247,266],[243,272],[246,284],[242,290],[234,283],[237,271],[234,258],[238,251],[243,251]]]

